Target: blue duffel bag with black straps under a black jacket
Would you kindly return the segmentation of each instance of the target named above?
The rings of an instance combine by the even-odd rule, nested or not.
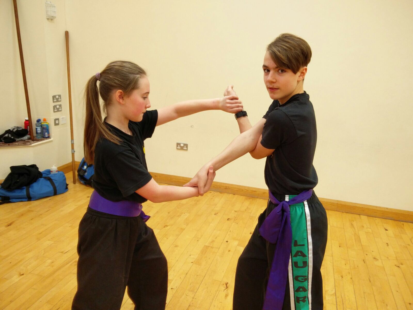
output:
[[[50,169],[42,171],[43,176],[29,186],[7,191],[0,186],[1,203],[17,203],[66,193],[66,176],[62,171],[50,173]]]

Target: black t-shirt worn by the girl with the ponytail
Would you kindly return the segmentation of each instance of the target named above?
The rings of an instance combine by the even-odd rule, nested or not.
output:
[[[122,141],[118,145],[101,138],[96,143],[93,188],[102,197],[112,201],[147,201],[135,191],[152,179],[146,165],[144,141],[152,137],[157,121],[157,110],[146,111],[140,122],[129,121],[132,136],[105,123]]]

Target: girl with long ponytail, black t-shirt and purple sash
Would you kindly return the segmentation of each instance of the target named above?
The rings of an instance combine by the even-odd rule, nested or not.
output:
[[[99,81],[99,90],[97,86]],[[85,160],[95,165],[88,209],[79,224],[78,289],[73,310],[121,308],[126,286],[135,309],[165,309],[168,268],[142,203],[198,196],[198,188],[160,186],[147,170],[146,138],[155,126],[204,110],[236,113],[236,95],[147,110],[149,81],[133,62],[111,62],[85,89]],[[99,94],[107,117],[102,122]],[[215,173],[209,168],[204,192]]]

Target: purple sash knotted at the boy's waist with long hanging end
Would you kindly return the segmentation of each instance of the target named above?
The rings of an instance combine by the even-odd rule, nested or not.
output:
[[[280,310],[284,303],[285,287],[287,286],[288,263],[290,261],[292,230],[290,220],[290,205],[308,200],[313,190],[304,191],[289,201],[279,202],[271,191],[270,200],[277,205],[264,220],[259,233],[270,243],[277,243],[273,264],[268,279],[263,310]],[[279,240],[279,242],[277,242]]]

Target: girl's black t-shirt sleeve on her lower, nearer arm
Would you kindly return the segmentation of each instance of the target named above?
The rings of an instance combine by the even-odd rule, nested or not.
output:
[[[112,157],[106,169],[123,197],[133,194],[152,179],[142,162],[129,150],[119,152]]]

